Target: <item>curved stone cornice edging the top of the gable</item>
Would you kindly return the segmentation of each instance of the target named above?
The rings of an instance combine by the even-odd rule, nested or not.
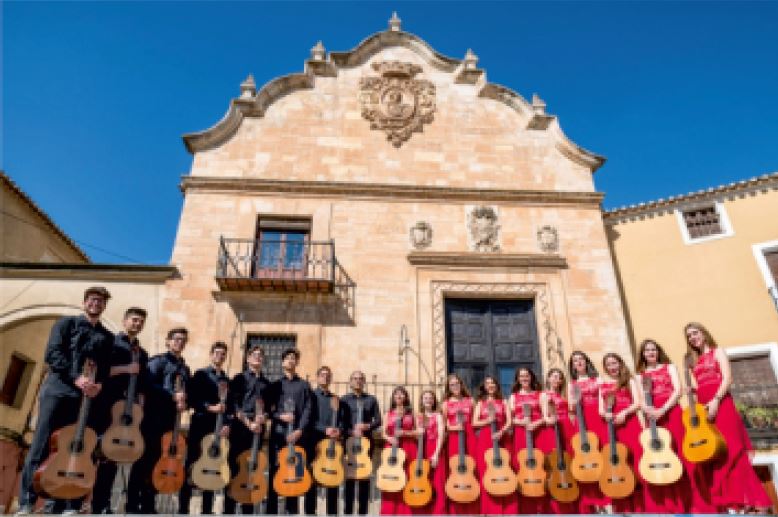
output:
[[[592,172],[605,163],[605,158],[574,144],[562,132],[557,117],[545,113],[545,104],[530,104],[521,95],[499,84],[486,81],[483,70],[475,68],[474,56],[464,60],[444,56],[436,52],[427,42],[409,32],[386,30],[377,32],[362,40],[347,52],[330,52],[317,48],[315,55],[305,62],[302,73],[285,75],[266,83],[258,92],[254,90],[253,78],[242,85],[242,94],[232,99],[227,113],[214,126],[203,131],[183,136],[184,145],[190,153],[218,147],[229,140],[245,117],[262,117],[267,108],[277,99],[292,92],[314,87],[316,76],[336,77],[340,69],[353,68],[367,61],[383,48],[404,47],[424,59],[430,66],[452,74],[452,82],[471,84],[478,89],[478,96],[502,102],[526,120],[526,129],[549,131],[556,148],[575,163],[588,167]],[[470,52],[468,55],[471,56]]]

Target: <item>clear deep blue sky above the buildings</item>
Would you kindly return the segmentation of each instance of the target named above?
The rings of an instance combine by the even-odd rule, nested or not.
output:
[[[4,2],[2,168],[94,261],[167,263],[181,135],[392,10],[538,93],[606,208],[778,170],[778,2]]]

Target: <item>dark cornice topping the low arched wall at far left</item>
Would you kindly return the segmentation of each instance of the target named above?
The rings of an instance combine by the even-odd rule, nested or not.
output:
[[[0,278],[47,278],[61,280],[103,280],[162,284],[178,275],[175,266],[134,264],[59,264],[1,262]]]

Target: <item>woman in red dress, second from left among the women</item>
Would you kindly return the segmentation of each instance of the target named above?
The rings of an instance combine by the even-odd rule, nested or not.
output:
[[[421,508],[414,508],[413,513],[443,515],[446,513],[446,462],[440,456],[445,438],[445,424],[434,391],[424,390],[421,393],[420,407],[416,429],[419,433],[424,430],[424,458],[430,462],[432,501]]]

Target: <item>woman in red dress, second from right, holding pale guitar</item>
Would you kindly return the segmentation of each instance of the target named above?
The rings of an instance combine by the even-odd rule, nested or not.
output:
[[[672,485],[645,485],[645,509],[650,513],[715,513],[716,508],[705,500],[707,487],[697,487],[688,473],[694,464],[680,453],[684,428],[681,422],[681,381],[678,370],[670,362],[664,349],[653,339],[645,339],[638,350],[637,372],[641,384],[651,380],[652,405],[643,399],[642,410],[646,419],[655,419],[656,425],[670,432],[672,447],[684,466],[684,475]],[[645,386],[642,386],[645,390]]]

